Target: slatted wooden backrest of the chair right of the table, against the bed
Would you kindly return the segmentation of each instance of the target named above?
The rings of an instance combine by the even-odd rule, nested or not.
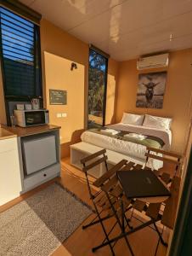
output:
[[[146,148],[147,152],[145,153],[146,156],[146,163],[148,162],[149,158],[161,160],[163,162],[167,162],[175,166],[175,173],[174,176],[180,174],[180,170],[183,164],[183,157],[181,154],[168,152],[158,148]],[[180,175],[179,175],[180,176]]]

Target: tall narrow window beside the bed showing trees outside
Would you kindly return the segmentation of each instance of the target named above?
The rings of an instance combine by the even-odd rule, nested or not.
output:
[[[104,125],[108,59],[89,49],[88,128]]]

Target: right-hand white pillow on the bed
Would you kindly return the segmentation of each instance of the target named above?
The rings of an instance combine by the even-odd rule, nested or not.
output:
[[[171,124],[172,124],[172,119],[145,114],[143,125],[146,127],[168,130],[170,129]]]

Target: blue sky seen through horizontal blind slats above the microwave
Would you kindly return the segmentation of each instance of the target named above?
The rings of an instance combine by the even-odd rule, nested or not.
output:
[[[33,65],[34,24],[0,8],[3,57]]]

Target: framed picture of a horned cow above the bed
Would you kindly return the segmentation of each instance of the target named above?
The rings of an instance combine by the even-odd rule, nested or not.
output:
[[[137,108],[162,108],[167,72],[138,75]]]

